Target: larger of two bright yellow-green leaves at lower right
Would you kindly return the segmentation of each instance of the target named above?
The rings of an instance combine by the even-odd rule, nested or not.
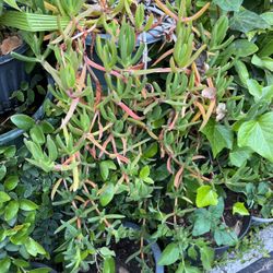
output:
[[[197,206],[216,205],[218,203],[217,192],[209,185],[198,188]]]

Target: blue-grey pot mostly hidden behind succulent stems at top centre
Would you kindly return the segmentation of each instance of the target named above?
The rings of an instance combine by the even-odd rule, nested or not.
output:
[[[149,32],[146,32],[145,36],[143,36],[143,34],[139,35],[138,39],[136,39],[135,47],[138,48],[141,41],[143,41],[143,43],[145,41],[146,45],[152,45],[152,44],[161,40],[163,38],[163,36],[164,36],[164,29],[165,28],[163,26],[156,26],[155,28],[150,29]],[[100,34],[99,36],[100,36],[102,39],[110,39],[110,37],[111,37],[109,34]],[[94,62],[96,62],[97,64],[103,67],[104,64],[103,64],[102,60],[99,59],[99,57],[96,54],[95,45],[94,45],[93,55],[91,56],[91,52],[90,52],[90,47],[92,45],[92,36],[91,35],[88,35],[86,37],[85,44],[87,46],[87,56],[88,56],[88,58],[91,58]],[[102,71],[102,70],[95,69],[95,68],[93,68],[93,72],[96,75],[96,78],[98,79],[102,86],[104,88],[106,88],[107,83],[106,83],[105,76],[104,76],[105,72]]]

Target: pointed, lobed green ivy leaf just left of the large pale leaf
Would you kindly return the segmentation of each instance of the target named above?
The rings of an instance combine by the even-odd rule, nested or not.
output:
[[[215,157],[223,149],[232,149],[234,135],[229,128],[210,120],[205,128],[202,130],[206,139],[212,145],[213,156]]]

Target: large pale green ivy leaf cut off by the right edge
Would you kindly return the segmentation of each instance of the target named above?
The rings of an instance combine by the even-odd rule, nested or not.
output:
[[[273,162],[273,111],[244,122],[238,131],[238,146],[250,147]]]

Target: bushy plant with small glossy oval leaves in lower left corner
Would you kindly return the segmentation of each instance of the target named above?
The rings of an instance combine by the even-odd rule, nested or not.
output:
[[[38,205],[23,195],[24,188],[14,171],[19,164],[15,147],[1,147],[0,155],[0,269],[26,271],[32,258],[48,258],[46,250],[32,238]]]

